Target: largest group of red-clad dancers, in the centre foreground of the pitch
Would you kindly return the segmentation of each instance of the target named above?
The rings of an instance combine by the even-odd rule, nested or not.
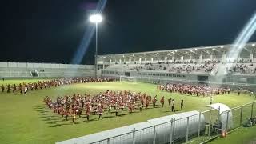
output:
[[[70,116],[75,122],[77,117],[81,118],[82,114],[86,115],[87,121],[90,121],[90,114],[97,115],[98,120],[103,118],[103,114],[115,113],[118,116],[123,110],[128,110],[132,114],[135,110],[141,112],[143,109],[155,108],[157,105],[157,95],[152,97],[150,94],[142,94],[131,92],[129,90],[106,90],[104,93],[92,94],[74,94],[73,96],[66,95],[53,100],[50,97],[44,98],[43,102],[54,113],[62,115],[68,120]],[[174,99],[168,99],[171,110],[175,112]],[[160,99],[160,104],[163,107],[165,98]],[[183,100],[181,102],[181,109],[183,110]]]

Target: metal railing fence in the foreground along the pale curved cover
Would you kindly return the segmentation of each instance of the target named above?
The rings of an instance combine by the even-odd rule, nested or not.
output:
[[[230,110],[223,111],[222,113],[219,112],[220,109],[211,109],[186,118],[173,118],[170,119],[170,122],[150,126],[142,130],[134,129],[129,133],[93,142],[93,144],[174,144],[206,142],[211,138],[218,137],[223,131],[229,132],[239,126],[245,125],[246,122],[248,122],[248,118],[256,118],[256,102],[237,106]],[[226,118],[226,123],[221,123],[221,118]],[[163,130],[164,133],[159,134],[159,130]]]

